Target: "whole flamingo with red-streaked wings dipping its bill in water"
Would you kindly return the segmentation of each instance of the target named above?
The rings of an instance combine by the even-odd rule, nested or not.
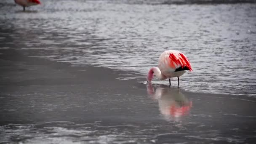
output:
[[[178,87],[179,87],[179,77],[183,75],[186,71],[192,71],[191,64],[189,59],[176,50],[164,51],[158,60],[158,67],[152,67],[149,69],[147,74],[147,82],[151,82],[154,73],[159,80],[169,79],[169,83],[171,86],[171,77],[178,77]]]

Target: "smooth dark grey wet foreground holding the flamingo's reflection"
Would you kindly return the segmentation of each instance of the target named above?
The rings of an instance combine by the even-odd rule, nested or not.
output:
[[[256,101],[0,50],[0,143],[254,143]],[[182,81],[181,81],[182,85]]]

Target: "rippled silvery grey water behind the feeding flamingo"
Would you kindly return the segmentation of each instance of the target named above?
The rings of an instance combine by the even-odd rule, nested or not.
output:
[[[0,43],[1,48],[74,66],[128,71],[121,80],[145,77],[163,51],[176,49],[194,69],[181,77],[181,88],[254,97],[254,2],[42,0],[23,12],[14,1],[2,0]],[[172,81],[177,84],[176,78]]]

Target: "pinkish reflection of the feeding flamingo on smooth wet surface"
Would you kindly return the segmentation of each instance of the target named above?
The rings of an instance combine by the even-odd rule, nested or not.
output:
[[[167,120],[179,120],[180,117],[187,115],[192,107],[192,101],[189,101],[179,88],[159,85],[154,91],[152,84],[149,83],[147,93],[158,100],[159,110]]]

